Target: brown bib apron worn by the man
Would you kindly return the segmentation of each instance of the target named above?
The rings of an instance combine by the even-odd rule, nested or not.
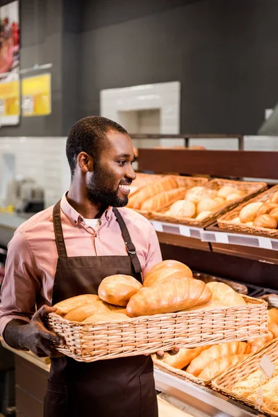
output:
[[[136,248],[117,208],[113,208],[129,256],[67,257],[60,220],[54,206],[58,263],[52,305],[85,293],[97,294],[109,275],[132,275],[141,281]],[[144,355],[83,363],[69,357],[51,359],[44,417],[158,417],[153,363]]]

